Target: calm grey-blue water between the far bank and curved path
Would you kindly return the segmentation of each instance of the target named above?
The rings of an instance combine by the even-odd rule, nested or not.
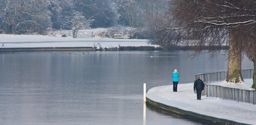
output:
[[[207,56],[206,56],[207,57]],[[143,103],[147,90],[227,70],[223,56],[182,59],[161,51],[1,52],[0,124],[202,125]],[[253,68],[244,59],[242,69]],[[179,85],[178,85],[179,91]]]

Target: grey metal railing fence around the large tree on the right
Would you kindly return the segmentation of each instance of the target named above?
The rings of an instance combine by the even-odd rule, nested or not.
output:
[[[253,70],[254,69],[242,69],[243,78],[251,79]],[[202,95],[256,104],[256,90],[251,91],[218,85],[207,85],[207,83],[211,82],[224,81],[227,76],[227,71],[197,74],[194,76],[194,80],[196,80],[197,76],[200,76],[200,79],[205,83],[205,89],[202,91]]]

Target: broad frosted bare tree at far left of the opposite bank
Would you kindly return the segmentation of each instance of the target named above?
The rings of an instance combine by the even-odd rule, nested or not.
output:
[[[43,0],[0,0],[1,29],[6,34],[37,32],[51,27],[49,11]]]

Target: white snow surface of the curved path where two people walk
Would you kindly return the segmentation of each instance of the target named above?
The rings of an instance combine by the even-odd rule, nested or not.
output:
[[[252,83],[252,79],[245,81]],[[173,92],[173,85],[154,87],[148,90],[146,97],[154,102],[198,114],[256,125],[256,105],[206,96],[197,100],[193,85],[178,84],[178,92]]]

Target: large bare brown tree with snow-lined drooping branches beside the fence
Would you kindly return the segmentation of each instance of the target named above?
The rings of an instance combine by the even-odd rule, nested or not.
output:
[[[176,31],[178,37],[170,41],[173,44],[190,46],[193,51],[188,55],[197,57],[207,51],[216,51],[223,45],[229,45],[227,82],[241,82],[241,58],[243,41],[240,35],[247,31],[242,27],[252,27],[256,23],[256,3],[252,0],[173,0],[168,3],[165,26],[166,35]],[[253,32],[255,34],[255,32]],[[168,38],[168,37],[166,37]]]

